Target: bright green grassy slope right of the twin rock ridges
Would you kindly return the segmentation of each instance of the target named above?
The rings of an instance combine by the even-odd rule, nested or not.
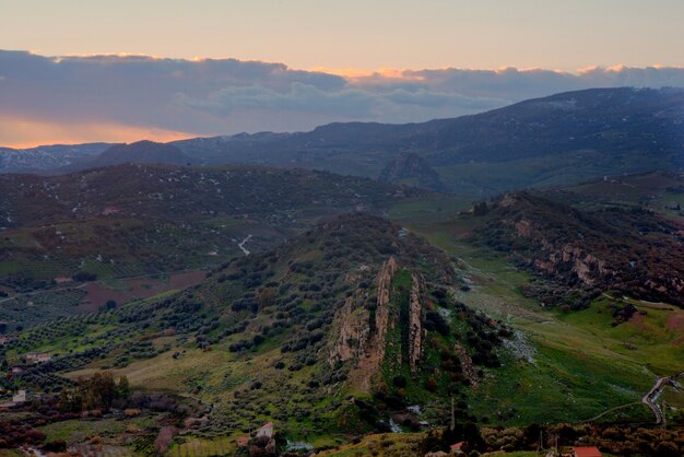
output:
[[[657,375],[684,370],[684,348],[673,345],[676,332],[664,328],[673,313],[682,312],[649,309],[642,326],[613,328],[606,298],[570,315],[542,309],[520,293],[519,286],[531,279],[528,273],[462,239],[476,225],[472,219],[462,224],[440,219],[405,223],[458,256],[460,272],[471,286],[469,292],[457,291],[459,300],[504,318],[533,347],[534,363],[508,354],[503,355],[504,367],[486,372],[485,383],[471,395],[476,415],[514,424],[588,420],[609,408],[640,401]],[[626,342],[637,349],[627,349]],[[670,396],[674,402],[682,397]],[[645,407],[626,414],[650,420]]]

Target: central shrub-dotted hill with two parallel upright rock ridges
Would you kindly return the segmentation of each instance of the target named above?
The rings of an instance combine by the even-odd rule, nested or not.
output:
[[[389,431],[390,419],[417,427],[408,407],[441,423],[445,399],[498,366],[509,335],[451,300],[453,280],[425,241],[342,215],[185,292],[39,326],[4,350],[10,364],[54,354],[20,376],[46,391],[110,368],[135,389],[199,397],[212,403],[210,435],[267,421],[293,437]],[[464,402],[458,414],[470,417]]]

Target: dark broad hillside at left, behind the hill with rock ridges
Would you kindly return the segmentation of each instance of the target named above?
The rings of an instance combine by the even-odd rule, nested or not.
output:
[[[209,269],[274,246],[321,219],[384,213],[420,196],[325,172],[142,164],[50,177],[0,175],[0,292],[14,298],[0,297],[0,320],[11,326],[82,312],[73,306],[91,290],[84,279],[149,277],[145,283],[153,284],[155,274]],[[127,281],[133,296],[148,296],[135,280]],[[122,286],[95,291],[93,303],[101,295],[123,300]],[[73,306],[64,303],[71,300]],[[26,303],[32,313],[21,310]]]

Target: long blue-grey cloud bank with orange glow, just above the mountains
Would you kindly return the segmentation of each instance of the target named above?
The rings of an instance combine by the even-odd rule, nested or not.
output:
[[[92,141],[93,132],[121,141],[138,133],[163,139],[306,130],[330,121],[423,121],[622,85],[684,86],[684,69],[306,71],[236,59],[0,50],[0,144],[31,142],[32,130],[20,128],[26,125],[35,127],[36,142],[78,142]]]

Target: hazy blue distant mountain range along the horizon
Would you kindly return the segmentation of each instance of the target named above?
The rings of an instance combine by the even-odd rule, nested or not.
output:
[[[139,142],[74,145],[69,153],[57,147],[5,150],[0,171],[54,174],[129,161],[255,164],[492,195],[614,173],[682,169],[683,106],[679,89],[597,89],[423,124],[330,124],[309,132],[180,140],[166,149]],[[420,166],[406,154],[418,157]]]

